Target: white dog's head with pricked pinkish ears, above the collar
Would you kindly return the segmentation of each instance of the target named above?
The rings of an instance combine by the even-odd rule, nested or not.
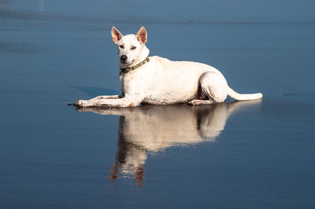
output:
[[[144,45],[146,42],[146,30],[141,27],[137,35],[129,34],[123,36],[115,27],[112,28],[112,37],[117,44],[119,56],[119,67],[132,67],[143,61],[149,54]]]

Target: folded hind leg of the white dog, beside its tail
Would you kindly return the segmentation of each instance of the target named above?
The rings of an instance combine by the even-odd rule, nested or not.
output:
[[[225,100],[228,86],[222,74],[217,72],[205,72],[200,76],[199,82],[203,93],[209,99],[194,99],[189,102],[190,104],[197,105],[219,103]]]

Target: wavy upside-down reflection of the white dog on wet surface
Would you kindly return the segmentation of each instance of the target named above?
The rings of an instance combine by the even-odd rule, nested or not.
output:
[[[224,129],[227,118],[240,108],[261,100],[233,101],[211,105],[140,106],[130,108],[77,108],[102,115],[118,115],[119,138],[116,162],[110,179],[133,177],[141,186],[144,162],[149,152],[170,146],[214,141]],[[115,181],[112,181],[115,184]]]

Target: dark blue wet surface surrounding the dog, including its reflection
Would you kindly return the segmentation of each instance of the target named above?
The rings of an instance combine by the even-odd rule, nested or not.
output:
[[[110,30],[218,68],[254,102],[86,109]],[[314,208],[314,1],[0,0],[1,208]]]

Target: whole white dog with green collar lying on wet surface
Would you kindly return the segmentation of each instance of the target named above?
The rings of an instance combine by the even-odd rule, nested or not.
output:
[[[130,107],[140,103],[192,105],[223,102],[226,96],[236,100],[262,98],[261,93],[240,94],[232,90],[214,67],[188,61],[170,61],[148,57],[146,30],[123,36],[115,27],[112,37],[118,48],[120,95],[97,96],[77,100],[81,107]]]

